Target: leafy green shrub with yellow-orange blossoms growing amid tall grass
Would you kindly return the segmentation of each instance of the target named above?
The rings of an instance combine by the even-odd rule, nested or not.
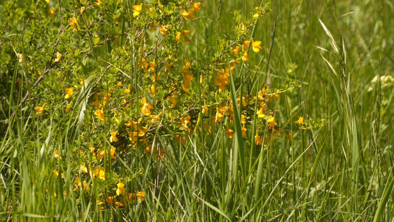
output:
[[[155,188],[141,186],[152,178],[145,167],[176,158],[177,147],[195,146],[196,139],[212,145],[211,135],[223,134],[230,147],[242,143],[256,149],[325,124],[299,114],[286,122],[272,111],[271,103],[300,86],[263,85],[261,60],[251,62],[266,50],[253,35],[255,24],[269,15],[269,3],[245,19],[234,11],[236,25],[205,46],[199,12],[207,9],[200,2],[130,4],[39,1],[36,16],[43,27],[37,32],[43,36],[24,33],[29,47],[15,45],[17,66],[28,78],[21,103],[33,105],[32,118],[64,129],[46,144],[64,139],[67,147],[43,152],[55,160],[51,171],[65,186],[62,195],[73,192],[99,210],[126,212],[145,198],[154,200]],[[37,25],[38,18],[24,25]],[[190,53],[191,47],[198,53]],[[144,167],[135,168],[136,162]]]

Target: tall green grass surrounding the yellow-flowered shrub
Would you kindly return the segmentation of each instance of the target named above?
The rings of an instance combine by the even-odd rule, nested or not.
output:
[[[125,4],[130,7],[134,3],[125,0]],[[198,15],[202,19],[198,26],[194,22],[200,28],[190,29],[194,44],[182,49],[184,58],[192,58],[197,67],[203,66],[202,59],[212,52],[217,38],[223,38],[234,25],[231,12],[241,10],[245,18],[254,13],[260,1],[223,1],[220,23],[216,23],[217,4],[220,1],[201,0]],[[131,186],[143,189],[145,200],[122,210],[105,205],[103,211],[96,203],[100,187],[95,179],[87,181],[91,187],[88,194],[83,189],[72,191],[75,172],[71,169],[78,160],[52,155],[59,150],[71,156],[75,144],[78,149],[82,146],[81,134],[92,134],[85,125],[97,121],[96,117],[81,109],[66,115],[61,106],[65,101],[62,80],[52,75],[37,87],[51,86],[58,92],[61,100],[52,107],[53,115],[36,116],[32,107],[40,98],[31,95],[18,106],[27,90],[37,93],[31,72],[18,64],[13,52],[13,47],[19,51],[32,47],[30,37],[23,35],[30,35],[33,28],[21,28],[29,15],[18,15],[17,9],[15,14],[4,14],[6,7],[9,4],[0,6],[0,27],[4,27],[0,32],[4,57],[0,61],[0,81],[4,83],[0,89],[0,126],[4,128],[0,135],[1,221],[392,221],[394,87],[393,83],[371,83],[376,75],[393,75],[392,2],[272,0],[272,11],[258,21],[254,32],[263,49],[249,53],[249,62],[260,64],[255,77],[237,66],[230,74],[230,100],[235,103],[242,95],[256,94],[256,88],[264,84],[275,88],[291,79],[301,87],[269,103],[275,119],[278,117],[277,124],[288,126],[290,129],[282,130],[291,133],[294,121],[302,115],[305,120],[325,118],[325,126],[296,131],[292,141],[278,137],[265,146],[256,146],[251,130],[254,126],[246,138],[240,132],[241,106],[234,109],[235,136],[231,140],[224,132],[223,126],[229,124],[225,118],[216,123],[212,134],[191,134],[186,145],[173,143],[157,130],[153,144],[167,146],[166,158],[143,158],[141,151],[119,155],[113,163],[104,160],[120,169],[119,175],[132,175]],[[14,17],[24,19],[13,22],[10,19]],[[30,17],[28,24],[35,19]],[[120,29],[118,33],[128,28],[124,21],[121,23],[115,27]],[[113,31],[113,27],[108,29]],[[130,44],[126,36],[120,41],[97,47],[97,58],[109,61],[106,56],[112,55],[106,52],[116,44]],[[126,85],[132,84],[138,96],[144,93],[138,87],[141,77],[133,67],[136,62],[131,62],[132,68],[124,74],[137,81],[122,73],[119,76]],[[108,64],[97,60],[98,64],[104,67],[101,71],[84,73],[82,69],[87,83],[78,91],[74,107],[87,102],[98,80],[102,85],[111,81],[108,77],[112,71],[105,69]],[[240,84],[242,80],[244,84]],[[207,88],[198,89],[209,93]],[[208,115],[214,117],[215,112]],[[249,121],[256,122],[256,117]],[[99,133],[102,144],[110,149],[109,124],[103,130]],[[160,132],[169,134],[170,130],[164,126]],[[64,179],[52,172],[56,166],[61,166],[58,171]],[[56,197],[51,195],[54,192]]]

